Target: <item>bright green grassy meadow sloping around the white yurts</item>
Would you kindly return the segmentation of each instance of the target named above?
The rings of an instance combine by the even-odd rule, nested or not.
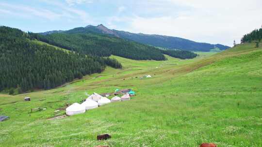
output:
[[[262,48],[240,44],[195,59],[131,60],[113,56],[123,69],[108,67],[59,88],[16,96],[0,94],[0,147],[262,147]],[[135,78],[150,74],[152,78]],[[131,101],[84,114],[63,115],[66,103],[85,92],[132,88]],[[30,96],[32,101],[23,101]],[[30,113],[31,108],[47,108]],[[112,138],[97,141],[109,133]]]

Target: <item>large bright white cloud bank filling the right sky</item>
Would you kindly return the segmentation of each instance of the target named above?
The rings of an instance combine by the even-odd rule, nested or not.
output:
[[[187,10],[161,16],[139,16],[134,13],[130,26],[133,32],[162,34],[197,42],[232,45],[262,23],[261,0],[151,0],[162,7],[189,7]],[[163,5],[165,3],[165,5]],[[148,6],[150,7],[150,6]],[[145,8],[147,9],[147,8]],[[189,11],[190,10],[190,11]],[[147,11],[147,10],[145,10]],[[159,12],[161,13],[161,12]]]

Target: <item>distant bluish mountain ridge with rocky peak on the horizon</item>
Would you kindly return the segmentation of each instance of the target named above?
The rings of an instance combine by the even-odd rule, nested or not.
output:
[[[132,40],[142,44],[148,44],[153,46],[165,47],[169,49],[180,49],[180,50],[189,50],[189,51],[205,51],[208,52],[213,48],[219,48],[220,50],[225,50],[229,46],[222,44],[207,44],[207,43],[197,43],[191,40],[172,37],[172,36],[163,36],[163,35],[148,35],[142,33],[131,33],[127,31],[119,31],[115,29],[108,29],[105,26],[98,25],[92,26],[88,25],[86,27],[79,27],[74,29],[69,29],[65,31],[48,31],[41,34],[47,35],[52,33],[98,33],[98,34],[107,34],[110,36],[120,37],[123,39]]]

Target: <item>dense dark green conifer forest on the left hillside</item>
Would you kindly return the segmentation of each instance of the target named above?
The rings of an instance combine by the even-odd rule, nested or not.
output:
[[[29,38],[19,29],[0,26],[0,91],[50,89],[86,74],[100,73],[106,65],[122,68],[116,59],[66,52]]]

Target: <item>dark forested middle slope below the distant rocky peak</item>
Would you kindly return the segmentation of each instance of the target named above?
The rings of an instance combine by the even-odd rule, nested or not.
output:
[[[30,33],[30,35],[48,44],[99,57],[116,55],[129,59],[165,60],[158,48],[107,35],[94,33],[53,33],[50,35]]]

